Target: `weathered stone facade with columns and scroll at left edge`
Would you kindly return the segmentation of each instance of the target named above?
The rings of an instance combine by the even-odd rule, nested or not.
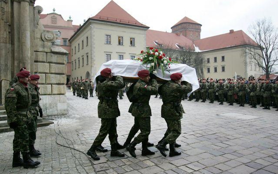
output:
[[[52,45],[56,35],[40,23],[43,8],[35,0],[1,0],[0,79],[11,80],[26,67],[40,79],[40,104],[45,115],[67,113],[65,96],[66,50]],[[9,82],[4,80],[1,104]]]

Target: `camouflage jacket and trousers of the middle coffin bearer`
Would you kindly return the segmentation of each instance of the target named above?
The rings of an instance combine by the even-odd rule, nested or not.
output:
[[[134,143],[136,144],[140,142],[148,143],[150,134],[150,116],[152,116],[149,101],[150,96],[155,95],[156,93],[157,81],[155,79],[150,80],[149,84],[139,79],[134,85],[133,95],[136,98],[136,102],[132,102],[128,112],[134,116],[134,128],[140,129],[140,134],[134,138]],[[130,132],[129,134],[133,133]]]

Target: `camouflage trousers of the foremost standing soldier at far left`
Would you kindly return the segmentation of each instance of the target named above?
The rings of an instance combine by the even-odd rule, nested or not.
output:
[[[29,135],[28,125],[18,125],[14,131],[13,151],[14,152],[29,152]]]

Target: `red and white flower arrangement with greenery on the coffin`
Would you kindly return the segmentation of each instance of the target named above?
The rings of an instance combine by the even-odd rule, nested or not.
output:
[[[147,67],[150,65],[150,72],[156,72],[156,69],[160,68],[163,75],[165,70],[170,72],[170,64],[173,63],[172,59],[166,57],[165,53],[152,47],[147,48],[146,51],[142,50],[140,55],[134,58],[134,60],[138,60],[142,62],[142,64],[147,64]]]

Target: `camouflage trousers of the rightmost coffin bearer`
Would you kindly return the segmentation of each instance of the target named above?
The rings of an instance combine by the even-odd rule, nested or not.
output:
[[[165,141],[173,144],[182,133],[181,120],[165,119],[165,121],[167,123],[167,131],[164,134],[166,136]]]

